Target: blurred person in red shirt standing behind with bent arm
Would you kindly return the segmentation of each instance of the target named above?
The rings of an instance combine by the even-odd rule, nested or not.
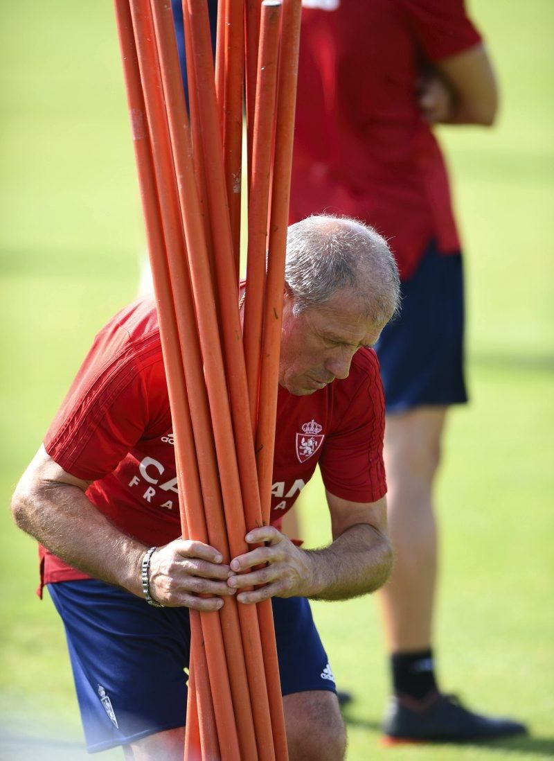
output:
[[[461,245],[432,125],[491,126],[495,74],[462,0],[303,5],[291,221],[331,212],[375,225],[403,280],[400,317],[376,346],[395,549],[380,593],[393,693],[385,739],[518,734],[523,724],[441,692],[432,647],[433,486],[448,407],[467,401]]]

